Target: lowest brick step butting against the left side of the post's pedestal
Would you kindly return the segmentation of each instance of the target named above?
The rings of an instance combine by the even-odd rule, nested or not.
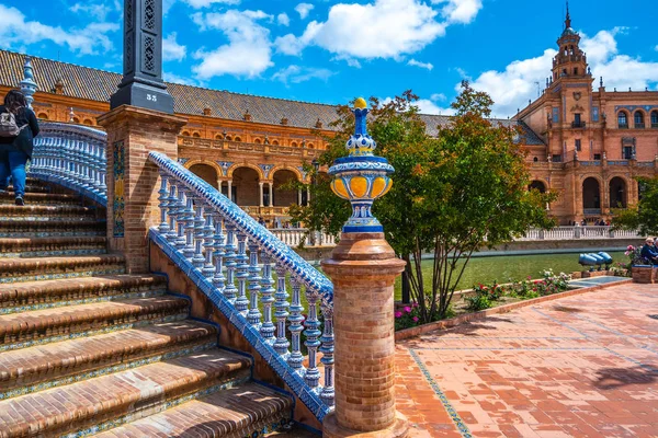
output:
[[[0,258],[97,255],[106,252],[106,238],[0,238]]]

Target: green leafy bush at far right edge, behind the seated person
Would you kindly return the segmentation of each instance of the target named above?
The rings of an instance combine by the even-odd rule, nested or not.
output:
[[[626,209],[614,210],[613,226],[622,230],[638,230],[642,235],[658,234],[658,177],[636,180],[642,199]]]

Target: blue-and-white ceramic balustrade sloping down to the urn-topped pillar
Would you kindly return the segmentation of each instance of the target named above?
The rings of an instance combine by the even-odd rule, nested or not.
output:
[[[181,164],[158,152],[151,152],[149,159],[162,180],[161,223],[151,229],[154,241],[321,420],[333,405],[333,285]],[[324,321],[318,320],[318,304]],[[306,336],[306,358],[302,334]],[[319,383],[318,351],[322,353],[324,385]]]

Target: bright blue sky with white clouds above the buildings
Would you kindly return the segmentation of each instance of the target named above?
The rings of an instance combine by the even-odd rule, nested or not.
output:
[[[166,79],[321,103],[412,89],[450,112],[464,78],[507,117],[537,95],[561,0],[163,0]],[[655,0],[572,0],[592,73],[658,90]],[[0,47],[121,72],[123,0],[0,0]],[[598,87],[598,81],[595,82]]]

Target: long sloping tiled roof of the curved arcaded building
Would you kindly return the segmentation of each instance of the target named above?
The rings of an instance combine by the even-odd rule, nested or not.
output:
[[[0,50],[0,84],[16,87],[23,79],[24,54]],[[64,95],[97,102],[107,102],[121,82],[122,74],[60,62],[45,58],[32,58],[34,81],[39,91],[52,92],[58,79],[64,82]],[[178,114],[202,115],[209,107],[212,116],[243,120],[249,111],[251,120],[269,125],[281,125],[287,118],[287,126],[315,128],[319,119],[325,128],[336,119],[336,105],[263,97],[229,91],[208,90],[200,87],[167,82],[167,89],[173,96],[174,111]],[[421,115],[428,126],[428,134],[435,135],[436,126],[446,125],[449,116]],[[509,126],[513,120],[496,119]],[[531,129],[519,123],[523,129],[526,145],[544,145]]]

